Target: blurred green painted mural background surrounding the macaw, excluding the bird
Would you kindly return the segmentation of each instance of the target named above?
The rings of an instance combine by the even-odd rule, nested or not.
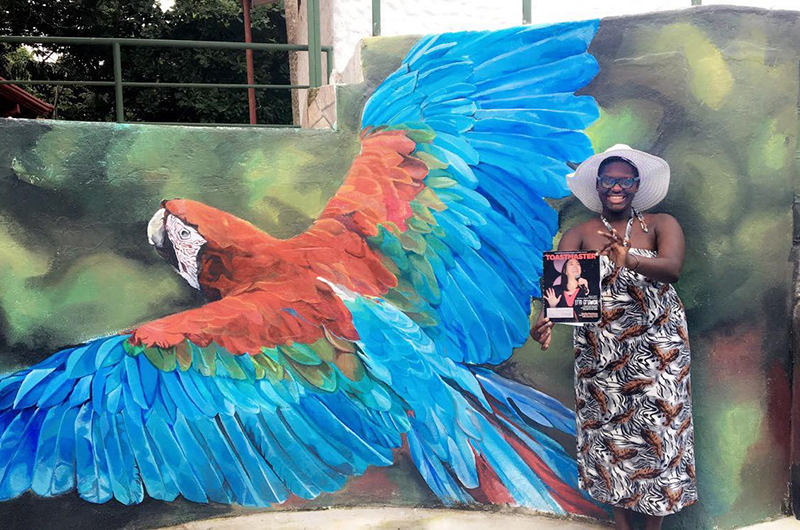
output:
[[[678,291],[693,346],[700,503],[667,528],[777,516],[789,480],[791,203],[797,176],[797,14],[730,8],[603,21],[585,90],[596,150],[666,157],[660,207],[684,227]],[[0,370],[200,303],[145,239],[164,198],[201,200],[271,234],[303,231],[358,150],[367,95],[415,38],[370,39],[365,83],[338,91],[339,130],[269,131],[0,120]],[[562,227],[586,218],[556,204]],[[572,347],[527,345],[501,371],[570,404]],[[310,503],[435,505],[403,457]],[[145,501],[91,506],[33,495],[0,504],[14,528],[151,528],[243,511]]]

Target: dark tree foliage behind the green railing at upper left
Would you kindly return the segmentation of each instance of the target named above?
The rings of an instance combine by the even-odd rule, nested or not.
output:
[[[252,10],[253,41],[286,42],[282,4]],[[0,34],[132,37],[241,42],[244,24],[237,0],[177,0],[162,12],[155,0],[2,0]],[[110,46],[2,46],[0,75],[13,79],[113,80]],[[27,55],[26,55],[27,54]],[[254,52],[255,82],[289,84],[287,52]],[[49,61],[43,61],[50,57]],[[56,58],[56,60],[53,60]],[[147,82],[246,83],[244,50],[122,48],[123,79]],[[56,105],[55,117],[113,121],[113,87],[37,86],[32,91]],[[246,123],[247,91],[140,89],[124,92],[125,119]],[[260,123],[291,123],[286,90],[256,91]]]

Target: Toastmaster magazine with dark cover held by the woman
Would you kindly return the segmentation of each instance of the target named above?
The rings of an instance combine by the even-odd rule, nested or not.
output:
[[[600,321],[600,257],[597,252],[545,252],[542,304],[557,323]]]

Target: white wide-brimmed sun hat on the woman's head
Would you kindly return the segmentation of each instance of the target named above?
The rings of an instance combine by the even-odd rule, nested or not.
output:
[[[639,190],[633,197],[633,208],[643,212],[660,203],[669,190],[669,164],[663,158],[639,151],[629,145],[617,144],[602,153],[587,158],[567,176],[572,193],[590,210],[603,211],[597,195],[597,170],[606,158],[619,156],[630,161],[639,170]]]

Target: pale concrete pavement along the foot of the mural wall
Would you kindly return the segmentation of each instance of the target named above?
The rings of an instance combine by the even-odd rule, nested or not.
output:
[[[422,508],[337,508],[281,511],[194,521],[162,530],[607,530],[580,519],[559,519],[525,510],[462,511]],[[742,530],[800,530],[800,521],[784,518]]]

